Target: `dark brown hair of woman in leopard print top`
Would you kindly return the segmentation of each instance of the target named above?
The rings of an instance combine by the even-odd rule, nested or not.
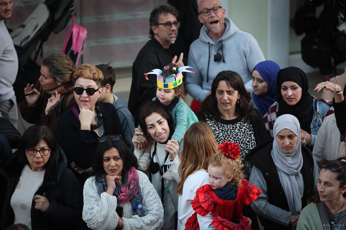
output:
[[[250,119],[252,106],[250,104],[251,97],[246,91],[242,77],[234,71],[225,70],[219,72],[213,82],[211,83],[211,92],[209,96],[204,99],[201,106],[202,113],[209,113],[216,122],[221,121],[221,112],[219,111],[216,100],[216,89],[220,81],[226,81],[227,87],[231,86],[237,90],[240,98],[239,103],[236,103],[236,116],[244,116],[244,122]]]

